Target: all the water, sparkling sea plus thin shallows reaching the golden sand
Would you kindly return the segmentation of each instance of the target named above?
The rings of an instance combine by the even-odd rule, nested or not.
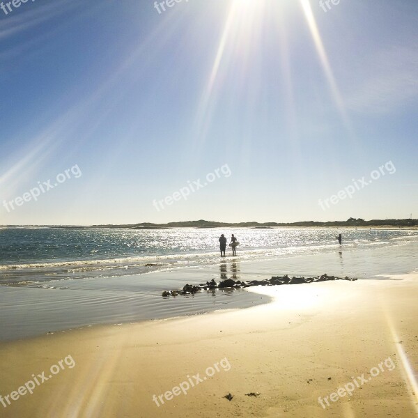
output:
[[[339,245],[336,235],[343,235]],[[234,233],[233,257],[218,238]],[[269,297],[218,289],[162,291],[272,275],[381,280],[418,269],[418,231],[408,229],[0,229],[0,341],[78,327],[162,320],[247,308]],[[298,285],[298,286],[315,286]]]

